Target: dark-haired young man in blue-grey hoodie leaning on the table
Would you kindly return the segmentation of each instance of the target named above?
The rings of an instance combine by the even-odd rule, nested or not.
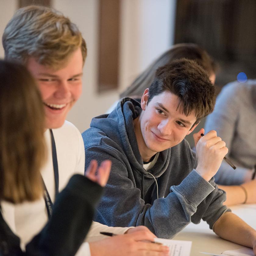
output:
[[[256,231],[222,203],[212,178],[228,149],[215,131],[194,135],[196,154],[184,137],[213,111],[215,88],[194,61],[160,67],[141,105],[123,98],[116,109],[92,119],[83,133],[86,167],[110,159],[112,169],[96,220],[110,226],[145,225],[172,238],[201,219],[224,239],[254,248]],[[239,235],[238,235],[239,234]]]

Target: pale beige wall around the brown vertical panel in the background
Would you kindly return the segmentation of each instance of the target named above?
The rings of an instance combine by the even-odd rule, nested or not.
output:
[[[119,90],[97,93],[98,1],[52,0],[53,7],[78,25],[86,42],[83,93],[68,120],[83,132],[91,118],[104,113],[119,92],[173,42],[175,0],[122,0]],[[0,0],[0,36],[16,9],[16,0]],[[0,56],[3,57],[2,44]]]

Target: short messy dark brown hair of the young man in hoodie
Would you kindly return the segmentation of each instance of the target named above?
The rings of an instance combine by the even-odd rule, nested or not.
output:
[[[177,59],[157,69],[149,87],[151,99],[169,91],[180,98],[178,108],[186,115],[195,114],[196,123],[211,113],[215,105],[215,87],[208,73],[195,61]]]

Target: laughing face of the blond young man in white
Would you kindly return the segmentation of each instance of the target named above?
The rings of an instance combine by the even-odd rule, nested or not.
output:
[[[27,68],[37,80],[41,91],[46,127],[59,128],[82,92],[83,58],[81,49],[69,57],[63,68],[54,70],[30,57]]]

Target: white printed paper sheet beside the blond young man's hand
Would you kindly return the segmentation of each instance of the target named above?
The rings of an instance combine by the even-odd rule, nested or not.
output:
[[[189,256],[190,255],[190,250],[192,245],[191,241],[155,238],[155,242],[168,246],[170,249],[169,256]]]

